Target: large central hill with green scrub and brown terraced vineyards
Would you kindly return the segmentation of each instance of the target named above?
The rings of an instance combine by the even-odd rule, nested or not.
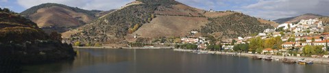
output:
[[[227,18],[233,16],[234,18],[221,18],[223,16],[228,16]],[[251,21],[242,20],[239,18],[240,16],[245,16],[241,18],[249,18]],[[245,31],[232,30],[236,32],[239,31],[243,35],[247,35],[249,32],[257,33],[262,29],[267,29],[267,27],[273,28],[271,25],[277,25],[268,20],[246,16],[239,12],[208,12],[206,10],[199,10],[174,0],[136,0],[132,3],[128,3],[119,10],[115,10],[114,12],[110,12],[94,20],[88,25],[63,33],[63,35],[66,35],[64,37],[68,37],[72,42],[126,44],[126,40],[129,40],[132,38],[132,35],[136,34],[142,38],[154,38],[185,36],[189,35],[188,32],[193,30],[202,31],[204,33],[221,33],[223,31],[208,29],[209,32],[203,31],[206,29],[204,27],[219,25],[220,23],[212,23],[217,22],[217,20],[215,20],[216,18],[221,18],[224,23],[232,23],[234,25],[236,23],[242,23],[246,28],[250,28],[245,29]],[[240,20],[233,20],[235,18]],[[227,28],[221,28],[219,26],[212,27],[216,29],[234,29],[234,27],[228,27],[230,24],[225,25]]]

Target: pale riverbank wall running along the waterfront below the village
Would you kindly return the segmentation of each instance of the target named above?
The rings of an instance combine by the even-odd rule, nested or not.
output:
[[[185,49],[173,49],[174,51],[182,51],[182,52],[192,52],[193,50],[185,50]],[[293,59],[294,61],[297,61],[299,59],[304,59],[305,61],[313,61],[314,63],[326,63],[329,64],[329,59],[328,58],[316,58],[316,57],[291,57],[291,56],[280,56],[280,55],[259,55],[259,54],[250,54],[250,53],[224,53],[224,52],[219,52],[219,51],[208,51],[208,50],[201,50],[200,52],[207,52],[208,54],[217,54],[217,55],[237,55],[237,56],[243,56],[243,57],[252,57],[252,56],[257,56],[257,57],[271,57],[272,59]]]

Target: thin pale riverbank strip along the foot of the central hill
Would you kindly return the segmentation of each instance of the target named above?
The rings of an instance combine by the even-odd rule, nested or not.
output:
[[[114,46],[73,46],[73,48],[105,48],[105,49],[172,49],[173,46],[168,47],[114,47]]]

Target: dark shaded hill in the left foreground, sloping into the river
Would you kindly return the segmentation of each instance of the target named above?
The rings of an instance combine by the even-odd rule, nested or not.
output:
[[[69,44],[60,42],[59,33],[48,35],[36,23],[0,8],[0,64],[12,68],[8,63],[18,65],[45,63],[73,59],[75,52]],[[5,60],[3,60],[5,59]],[[3,70],[0,70],[0,72]],[[6,72],[11,72],[6,71]]]

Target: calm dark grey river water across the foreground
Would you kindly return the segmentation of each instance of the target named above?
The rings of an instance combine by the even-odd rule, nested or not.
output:
[[[329,65],[300,65],[172,49],[77,49],[74,61],[27,65],[26,73],[329,73]]]

